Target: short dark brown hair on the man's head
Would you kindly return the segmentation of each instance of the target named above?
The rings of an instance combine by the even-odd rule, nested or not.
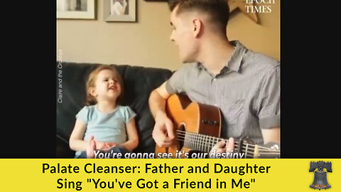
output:
[[[178,6],[175,14],[185,11],[198,10],[210,15],[211,23],[214,23],[223,34],[226,34],[227,21],[229,21],[229,4],[227,0],[169,0],[171,11]]]

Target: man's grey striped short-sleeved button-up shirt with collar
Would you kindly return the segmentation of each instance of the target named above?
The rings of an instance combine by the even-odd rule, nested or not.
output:
[[[261,129],[280,125],[280,63],[231,41],[234,53],[219,74],[188,63],[166,82],[168,93],[185,92],[222,112],[221,137],[249,137],[263,144]]]

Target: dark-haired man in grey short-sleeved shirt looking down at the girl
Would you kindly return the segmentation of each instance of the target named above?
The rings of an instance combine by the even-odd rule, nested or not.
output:
[[[175,139],[165,105],[176,92],[220,108],[221,136],[229,140],[212,150],[233,151],[234,139],[243,136],[256,144],[280,142],[280,63],[227,39],[227,1],[178,0],[169,7],[170,38],[187,64],[149,97],[156,144],[170,146]]]

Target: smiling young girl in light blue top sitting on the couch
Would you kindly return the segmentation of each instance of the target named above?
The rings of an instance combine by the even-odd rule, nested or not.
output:
[[[118,103],[123,82],[115,68],[100,65],[87,80],[87,106],[76,115],[70,136],[75,158],[94,158],[98,152],[124,154],[139,144],[135,119],[130,107]],[[96,151],[99,149],[99,151]]]

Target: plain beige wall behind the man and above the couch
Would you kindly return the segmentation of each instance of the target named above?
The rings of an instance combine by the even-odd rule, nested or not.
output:
[[[178,50],[169,41],[170,11],[166,2],[136,0],[137,22],[106,22],[103,1],[97,1],[96,20],[57,20],[57,49],[63,61],[141,65],[176,70],[181,63]],[[271,14],[259,14],[261,25],[240,11],[227,26],[230,40],[280,59],[279,1]]]

